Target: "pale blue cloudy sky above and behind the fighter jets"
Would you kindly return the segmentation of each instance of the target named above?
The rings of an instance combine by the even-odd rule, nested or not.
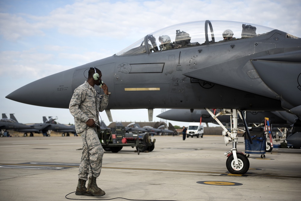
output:
[[[299,0],[0,0],[0,113],[14,113],[24,124],[41,123],[42,116],[74,124],[68,109],[27,105],[5,96],[48,75],[112,56],[173,24],[249,22],[301,37],[300,10]],[[160,121],[156,116],[161,111],[154,109],[153,121]],[[148,122],[147,109],[111,113],[117,122]],[[105,112],[101,118],[110,124]]]

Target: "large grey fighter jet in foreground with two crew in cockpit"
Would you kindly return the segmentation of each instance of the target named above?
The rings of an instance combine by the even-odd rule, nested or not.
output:
[[[34,81],[6,97],[68,108],[89,68],[99,68],[111,93],[106,110],[110,121],[110,109],[147,108],[150,121],[153,108],[221,108],[219,116],[232,115],[233,131],[223,127],[233,142],[225,153],[231,154],[226,164],[231,173],[244,174],[249,161],[236,149],[237,115],[240,111],[290,110],[298,116],[300,63],[299,37],[250,23],[195,21],[147,34],[111,57]],[[277,77],[285,76],[268,77],[276,73],[274,67],[279,70]]]

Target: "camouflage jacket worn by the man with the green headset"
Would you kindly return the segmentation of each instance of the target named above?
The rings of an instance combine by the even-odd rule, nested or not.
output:
[[[74,90],[73,96],[69,104],[69,111],[74,117],[76,133],[80,133],[86,129],[86,122],[89,119],[99,124],[99,112],[107,108],[109,96],[100,94],[87,81]]]

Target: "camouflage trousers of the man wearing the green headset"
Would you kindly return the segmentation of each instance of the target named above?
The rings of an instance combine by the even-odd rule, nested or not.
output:
[[[86,130],[78,134],[82,136],[83,148],[78,178],[88,180],[88,176],[98,177],[101,172],[104,149],[101,146],[97,133],[94,128],[87,127]]]

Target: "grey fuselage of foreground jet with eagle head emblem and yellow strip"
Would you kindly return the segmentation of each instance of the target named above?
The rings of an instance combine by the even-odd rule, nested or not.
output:
[[[68,108],[74,89],[87,80],[88,69],[95,67],[101,70],[102,80],[111,93],[107,109],[284,110],[285,101],[263,82],[251,60],[298,51],[301,40],[270,29],[252,37],[216,41],[218,37],[214,34],[219,32],[213,32],[215,27],[212,28],[210,21],[206,23],[205,39],[195,37],[199,41],[193,42],[195,35],[191,34],[190,43],[159,51],[154,32],[138,41],[138,47],[29,83],[7,98],[32,105]],[[177,42],[175,39],[174,44]],[[301,105],[301,93],[296,96],[300,99],[289,102],[290,108]]]

